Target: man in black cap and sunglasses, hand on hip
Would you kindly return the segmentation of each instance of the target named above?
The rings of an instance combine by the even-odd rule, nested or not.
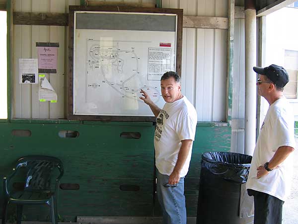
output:
[[[282,224],[283,204],[291,187],[291,153],[296,145],[292,107],[283,96],[289,75],[278,65],[253,70],[259,74],[258,94],[270,106],[253,153],[246,189],[254,196],[254,224]]]

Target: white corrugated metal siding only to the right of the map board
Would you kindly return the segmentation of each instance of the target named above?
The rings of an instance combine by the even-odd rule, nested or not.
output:
[[[184,15],[227,17],[227,0],[162,0],[163,8]],[[182,93],[195,106],[198,121],[224,121],[227,30],[183,28]]]

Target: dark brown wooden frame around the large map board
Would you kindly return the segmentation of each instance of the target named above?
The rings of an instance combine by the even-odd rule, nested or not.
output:
[[[168,9],[168,8],[135,8],[135,7],[88,7],[88,6],[70,6],[69,7],[69,69],[68,69],[68,119],[72,120],[101,120],[101,121],[145,121],[152,122],[155,120],[153,116],[126,116],[126,115],[78,115],[74,114],[74,14],[75,11],[90,11],[90,12],[129,12],[132,14],[138,13],[161,13],[161,14],[176,14],[176,72],[181,75],[182,62],[182,19],[183,9]],[[146,28],[145,28],[146,30]]]

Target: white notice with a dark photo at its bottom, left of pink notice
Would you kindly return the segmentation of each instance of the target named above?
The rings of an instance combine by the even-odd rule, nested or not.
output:
[[[38,83],[38,60],[34,58],[19,59],[19,83],[37,84]]]

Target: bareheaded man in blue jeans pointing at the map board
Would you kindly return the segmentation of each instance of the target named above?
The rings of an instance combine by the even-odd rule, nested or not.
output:
[[[195,139],[197,112],[181,94],[180,77],[166,72],[160,80],[166,102],[162,110],[141,90],[140,97],[156,117],[154,133],[157,196],[163,224],[186,224],[184,177],[188,172]]]

